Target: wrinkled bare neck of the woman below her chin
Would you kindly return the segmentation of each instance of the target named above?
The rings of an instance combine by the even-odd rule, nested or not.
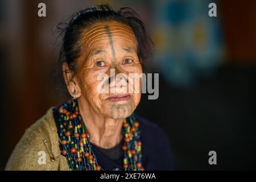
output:
[[[90,142],[101,148],[112,148],[122,140],[123,119],[105,117],[80,98],[79,110],[84,120]]]

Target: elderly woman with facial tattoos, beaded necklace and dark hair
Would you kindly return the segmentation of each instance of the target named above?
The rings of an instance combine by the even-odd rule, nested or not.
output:
[[[100,92],[102,73],[142,73],[152,42],[129,8],[82,9],[64,27],[59,73],[72,99],[51,107],[20,139],[7,170],[169,170],[166,134],[134,115],[141,92]],[[113,77],[103,79],[113,89]],[[130,84],[133,90],[139,83]],[[100,89],[99,89],[100,88]],[[128,86],[121,86],[122,90]]]

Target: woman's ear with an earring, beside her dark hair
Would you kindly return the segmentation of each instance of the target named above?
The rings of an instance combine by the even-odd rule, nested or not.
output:
[[[63,63],[62,70],[63,78],[67,85],[69,94],[71,97],[75,96],[76,98],[79,98],[81,96],[81,88],[76,76],[73,76],[73,73],[67,63]]]

